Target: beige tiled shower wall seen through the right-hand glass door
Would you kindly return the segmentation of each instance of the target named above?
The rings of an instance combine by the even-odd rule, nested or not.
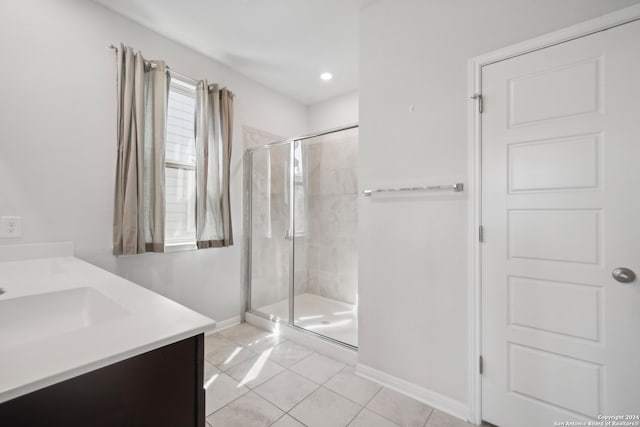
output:
[[[358,280],[357,130],[303,144],[307,171],[307,290],[355,304]],[[301,246],[301,245],[299,245]]]

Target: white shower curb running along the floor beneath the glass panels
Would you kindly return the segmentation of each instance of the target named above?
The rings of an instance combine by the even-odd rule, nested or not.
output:
[[[278,330],[278,333],[288,340],[291,340],[300,345],[309,347],[310,349],[317,351],[320,354],[324,354],[327,357],[331,357],[335,360],[339,360],[342,363],[349,365],[355,365],[358,360],[358,352],[350,348],[341,346],[331,341],[324,340],[320,337],[310,335],[303,331],[284,323],[272,322],[264,317],[256,316],[255,314],[246,313],[245,319],[247,323],[257,326],[266,330]]]

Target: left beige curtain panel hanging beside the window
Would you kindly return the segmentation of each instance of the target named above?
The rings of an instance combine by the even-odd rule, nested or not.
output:
[[[118,49],[118,158],[113,253],[164,251],[164,158],[169,75],[163,61]]]

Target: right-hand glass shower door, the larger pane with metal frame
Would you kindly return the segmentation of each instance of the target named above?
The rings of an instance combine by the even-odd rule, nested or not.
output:
[[[358,129],[293,153],[295,326],[357,347]]]

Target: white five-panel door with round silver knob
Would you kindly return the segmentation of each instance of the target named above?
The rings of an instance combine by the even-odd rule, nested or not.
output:
[[[482,70],[482,418],[640,414],[640,22]]]

